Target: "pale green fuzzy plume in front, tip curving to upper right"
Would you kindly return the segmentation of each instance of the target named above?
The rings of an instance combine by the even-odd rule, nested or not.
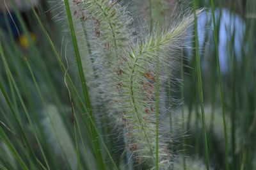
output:
[[[132,47],[127,57],[127,70],[124,70],[122,81],[124,127],[127,128],[127,136],[132,143],[132,151],[140,163],[141,160],[155,162],[155,136],[156,136],[156,61],[159,58],[160,91],[163,91],[164,82],[172,76],[175,67],[175,59],[179,56],[177,50],[182,48],[182,38],[186,35],[186,29],[193,24],[193,16],[187,15],[176,22],[168,31],[157,33],[153,31]],[[162,93],[160,93],[161,95]],[[161,96],[160,96],[161,98]],[[163,96],[162,96],[163,98]],[[161,112],[161,111],[160,111]],[[163,112],[161,112],[163,116]],[[161,116],[160,116],[161,117]],[[160,122],[161,122],[160,118]],[[168,150],[168,138],[164,139],[159,125],[159,167],[168,169],[170,166],[170,151]],[[167,135],[168,136],[168,135]]]

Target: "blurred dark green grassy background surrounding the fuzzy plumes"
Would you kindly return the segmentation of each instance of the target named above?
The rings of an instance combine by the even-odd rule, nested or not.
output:
[[[210,1],[166,0],[157,17],[150,15],[149,1],[118,3],[127,6],[138,30],[152,27],[151,19],[162,20],[160,25],[166,21],[172,24],[175,17],[193,9],[193,3],[196,8],[204,8],[198,15],[197,27],[210,166],[211,169],[227,169],[218,51],[227,123],[228,167],[256,169],[256,1],[214,1],[217,35]],[[82,169],[99,169],[94,159],[92,136],[86,131],[90,120],[84,112],[63,2],[31,0],[31,3],[0,0],[0,168],[26,169],[22,166],[26,164],[29,169],[47,169],[42,163],[46,157],[51,169],[79,169],[78,165]],[[206,168],[194,30],[195,25],[188,28],[191,43],[189,48],[182,49],[184,58],[180,70],[177,68],[174,73],[175,79],[182,83],[171,84],[172,96],[177,101],[171,107],[172,135],[177,139],[171,148],[175,155],[173,169],[184,169],[184,156],[186,169]],[[218,47],[214,35],[218,37]],[[77,128],[74,128],[74,119],[77,119]],[[113,155],[116,165],[128,169],[122,139],[116,137],[115,127],[106,126],[108,122],[108,118],[102,116],[97,123],[100,140],[106,142],[104,147]],[[118,145],[120,148],[116,150]],[[42,150],[45,155],[41,154]],[[106,151],[104,155],[112,169]]]

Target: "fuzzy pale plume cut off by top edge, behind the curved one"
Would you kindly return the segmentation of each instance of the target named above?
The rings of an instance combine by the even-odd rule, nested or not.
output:
[[[111,91],[113,84],[105,82],[115,80],[109,75],[120,72],[118,66],[124,62],[124,54],[133,42],[132,17],[126,7],[115,1],[75,1],[72,4],[79,49],[85,54],[81,57],[86,80],[89,80],[90,97],[95,100],[93,107],[97,107],[99,98],[109,101],[102,91]]]

